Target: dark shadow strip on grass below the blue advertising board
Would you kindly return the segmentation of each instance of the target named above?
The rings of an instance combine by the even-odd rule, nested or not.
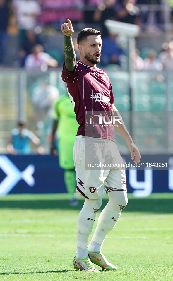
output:
[[[108,199],[103,198],[103,203],[100,208],[102,210],[107,204]],[[2,208],[18,208],[18,209],[61,209],[61,210],[81,210],[83,207],[83,200],[79,200],[76,207],[69,205],[69,200],[1,200],[0,209]],[[124,212],[154,212],[154,213],[173,213],[173,198],[163,199],[141,199],[131,198],[127,204]]]

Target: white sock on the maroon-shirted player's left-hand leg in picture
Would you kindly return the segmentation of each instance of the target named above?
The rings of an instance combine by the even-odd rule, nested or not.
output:
[[[88,237],[92,232],[97,211],[102,204],[102,199],[85,199],[82,210],[78,216],[77,222],[77,254],[76,258],[85,258],[88,256],[87,246]],[[83,250],[82,250],[83,249]]]

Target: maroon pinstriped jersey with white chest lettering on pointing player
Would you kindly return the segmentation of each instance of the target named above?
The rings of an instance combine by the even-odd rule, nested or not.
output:
[[[78,61],[73,73],[63,66],[62,79],[67,83],[68,95],[80,125],[77,135],[113,140],[113,126],[101,123],[98,117],[111,112],[111,104],[114,103],[112,86],[107,74],[102,69]],[[88,122],[91,118],[95,122],[92,124],[93,129],[91,122]]]

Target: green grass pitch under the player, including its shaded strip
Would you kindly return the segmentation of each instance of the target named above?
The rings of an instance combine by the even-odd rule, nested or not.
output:
[[[102,247],[118,270],[97,273],[76,271],[72,265],[83,198],[75,208],[69,207],[68,194],[0,198],[0,280],[172,281],[173,193],[128,197]],[[106,203],[105,196],[102,208]]]

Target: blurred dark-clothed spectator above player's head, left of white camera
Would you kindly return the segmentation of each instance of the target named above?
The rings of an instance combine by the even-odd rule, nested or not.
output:
[[[116,0],[104,0],[97,6],[93,14],[93,21],[100,24],[103,37],[107,36],[107,29],[104,25],[105,20],[115,20],[115,1]]]

